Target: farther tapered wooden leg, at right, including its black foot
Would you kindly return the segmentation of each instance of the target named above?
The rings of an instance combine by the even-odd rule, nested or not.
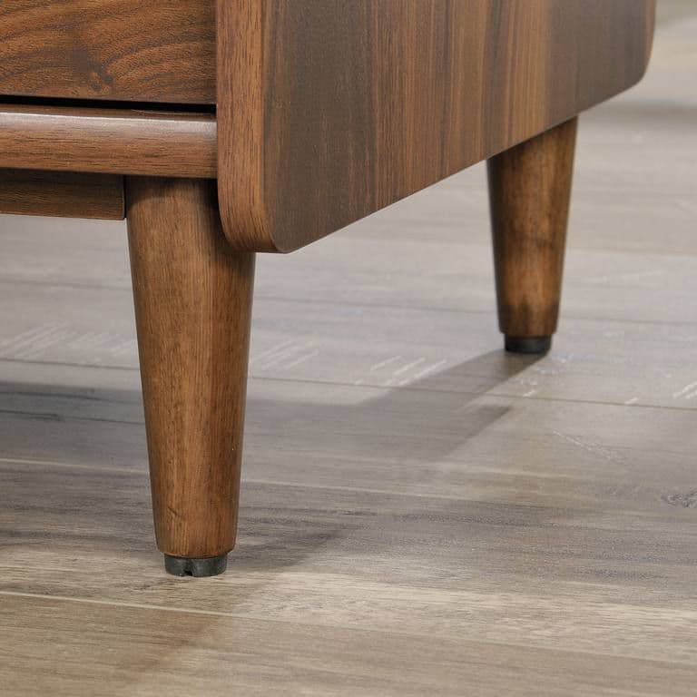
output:
[[[498,320],[509,351],[544,353],[556,330],[576,123],[488,161]]]

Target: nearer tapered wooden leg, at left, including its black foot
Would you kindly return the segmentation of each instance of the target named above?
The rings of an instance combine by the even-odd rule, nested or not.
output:
[[[221,574],[237,532],[254,255],[225,241],[215,182],[126,187],[157,545],[172,574]]]

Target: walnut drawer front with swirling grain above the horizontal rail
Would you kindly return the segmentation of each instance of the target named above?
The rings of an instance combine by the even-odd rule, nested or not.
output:
[[[215,103],[214,0],[6,0],[0,94]]]

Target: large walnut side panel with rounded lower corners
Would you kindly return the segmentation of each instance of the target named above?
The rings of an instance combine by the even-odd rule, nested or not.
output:
[[[218,0],[221,215],[296,249],[636,83],[653,0]]]

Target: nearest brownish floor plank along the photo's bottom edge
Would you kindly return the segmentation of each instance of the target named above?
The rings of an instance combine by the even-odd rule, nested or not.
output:
[[[692,694],[692,666],[359,629],[3,597],[14,630],[0,666],[27,697]],[[66,633],[66,623],[80,632]],[[49,641],[45,641],[46,638]],[[367,651],[367,649],[369,649]],[[85,672],[85,665],[90,666]],[[7,666],[12,666],[9,670]]]

